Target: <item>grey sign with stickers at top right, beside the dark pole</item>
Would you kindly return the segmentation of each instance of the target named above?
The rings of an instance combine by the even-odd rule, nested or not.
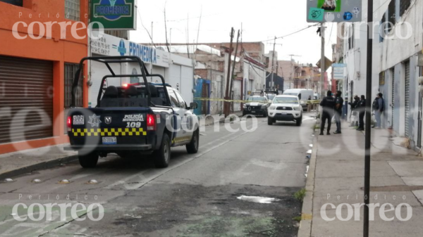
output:
[[[362,20],[362,0],[307,0],[307,23]]]

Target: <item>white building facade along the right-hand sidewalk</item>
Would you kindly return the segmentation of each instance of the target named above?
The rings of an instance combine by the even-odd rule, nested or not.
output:
[[[374,1],[374,9],[372,95],[384,94],[382,127],[409,139],[412,148],[420,148],[422,94],[418,78],[423,65],[418,62],[423,49],[423,2]],[[367,11],[364,4],[362,11]],[[347,23],[342,32],[348,91],[350,96],[365,95],[367,24]]]

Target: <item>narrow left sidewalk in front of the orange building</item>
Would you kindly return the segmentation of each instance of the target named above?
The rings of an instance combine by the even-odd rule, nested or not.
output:
[[[78,160],[75,151],[63,150],[63,146],[66,145],[68,144],[0,155],[0,181],[19,174],[29,173],[36,169],[46,169]]]

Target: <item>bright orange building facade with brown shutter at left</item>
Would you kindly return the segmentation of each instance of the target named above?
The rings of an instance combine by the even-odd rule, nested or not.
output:
[[[87,14],[87,0],[0,1],[0,153],[68,142],[64,112],[88,51],[86,27],[78,35],[71,29],[86,26]],[[86,65],[82,75],[81,106],[88,103]]]

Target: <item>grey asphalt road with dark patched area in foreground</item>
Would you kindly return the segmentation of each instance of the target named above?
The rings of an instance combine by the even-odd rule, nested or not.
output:
[[[305,186],[314,121],[305,114],[301,127],[269,126],[259,117],[253,132],[240,129],[253,127],[251,119],[233,122],[238,132],[208,126],[199,152],[174,148],[166,169],[149,157],[109,155],[95,169],[74,162],[13,177],[0,184],[0,236],[296,236],[301,203],[293,194]],[[13,210],[17,203],[34,206],[33,217],[23,205]],[[51,207],[48,217],[49,203],[69,207]],[[104,208],[98,221],[97,206],[85,210],[92,203]]]

